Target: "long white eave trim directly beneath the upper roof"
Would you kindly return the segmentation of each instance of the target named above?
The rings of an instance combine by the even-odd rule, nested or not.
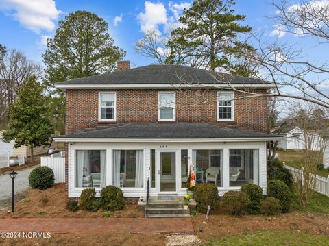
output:
[[[143,89],[143,88],[274,88],[269,84],[55,84],[55,88],[66,89]]]

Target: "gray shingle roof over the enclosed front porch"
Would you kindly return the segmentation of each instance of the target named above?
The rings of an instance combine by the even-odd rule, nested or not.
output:
[[[273,138],[273,134],[249,132],[208,123],[127,123],[112,125],[105,129],[90,130],[58,136],[58,138]]]

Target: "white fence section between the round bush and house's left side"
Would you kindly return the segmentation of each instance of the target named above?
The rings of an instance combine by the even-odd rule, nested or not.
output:
[[[41,157],[41,166],[50,167],[55,175],[55,183],[65,182],[65,155],[64,152],[54,153],[51,156]]]

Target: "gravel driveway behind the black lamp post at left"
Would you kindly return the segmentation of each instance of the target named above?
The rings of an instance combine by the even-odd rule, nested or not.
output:
[[[29,187],[29,173],[38,166],[29,167],[27,169],[17,170],[15,178],[15,194],[21,193],[25,188]],[[9,173],[0,174],[0,201],[8,199],[12,196],[12,179]]]

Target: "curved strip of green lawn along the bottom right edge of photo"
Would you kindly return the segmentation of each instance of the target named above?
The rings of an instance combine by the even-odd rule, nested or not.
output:
[[[281,246],[281,245],[328,245],[329,237],[297,231],[246,232],[239,236],[226,236],[205,245]]]

